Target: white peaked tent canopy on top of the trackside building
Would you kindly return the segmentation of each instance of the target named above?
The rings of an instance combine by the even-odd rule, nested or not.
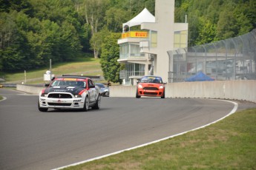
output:
[[[147,8],[144,8],[141,13],[132,18],[130,21],[122,24],[122,27],[133,27],[136,25],[140,25],[143,22],[155,22],[154,16],[147,10]]]

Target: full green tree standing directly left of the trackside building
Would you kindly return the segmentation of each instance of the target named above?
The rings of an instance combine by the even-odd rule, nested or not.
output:
[[[105,80],[114,83],[121,83],[119,79],[119,72],[122,69],[121,64],[117,62],[119,58],[119,45],[116,43],[117,39],[121,37],[120,33],[110,33],[104,39],[102,45],[101,67]]]

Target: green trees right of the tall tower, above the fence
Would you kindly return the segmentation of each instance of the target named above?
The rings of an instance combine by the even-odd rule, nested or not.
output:
[[[256,28],[255,0],[176,0],[175,21],[188,15],[188,46],[232,38]]]

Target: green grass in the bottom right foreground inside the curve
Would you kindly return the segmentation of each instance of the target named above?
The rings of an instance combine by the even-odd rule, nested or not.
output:
[[[67,169],[256,169],[256,109],[185,135]]]

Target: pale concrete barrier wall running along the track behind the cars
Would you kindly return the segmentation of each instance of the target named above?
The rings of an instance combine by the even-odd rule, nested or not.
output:
[[[45,87],[17,84],[17,90],[39,94]],[[110,97],[135,98],[137,86],[109,86]],[[256,103],[256,81],[196,81],[165,85],[165,98],[219,98]]]

